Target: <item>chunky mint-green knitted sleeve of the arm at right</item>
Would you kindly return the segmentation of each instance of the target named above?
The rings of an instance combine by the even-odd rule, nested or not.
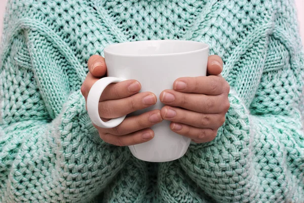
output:
[[[179,160],[219,202],[304,199],[303,51],[291,1],[278,1],[263,73],[251,105],[232,87],[231,108],[214,141]]]

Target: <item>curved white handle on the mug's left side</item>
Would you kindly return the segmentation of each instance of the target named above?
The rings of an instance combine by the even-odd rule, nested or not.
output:
[[[89,117],[91,121],[97,125],[98,127],[102,128],[112,128],[116,127],[119,124],[123,122],[123,120],[126,118],[125,116],[119,117],[119,118],[113,118],[107,122],[104,122],[99,117],[98,112],[98,104],[99,104],[99,98],[103,92],[103,90],[111,83],[118,83],[125,81],[121,78],[116,77],[105,77],[99,79],[97,82],[94,83],[94,85],[91,87],[88,98],[87,98],[87,110]]]

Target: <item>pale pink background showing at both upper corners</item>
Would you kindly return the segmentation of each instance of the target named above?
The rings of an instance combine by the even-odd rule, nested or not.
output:
[[[0,0],[0,37],[2,32],[3,15],[5,11],[5,5],[7,0]],[[295,0],[298,10],[298,19],[300,26],[300,33],[302,36],[302,43],[304,45],[304,0]]]

